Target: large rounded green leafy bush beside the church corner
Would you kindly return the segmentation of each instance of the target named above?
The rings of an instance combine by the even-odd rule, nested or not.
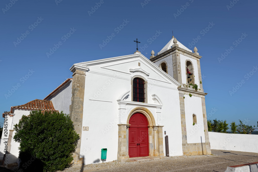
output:
[[[71,164],[79,135],[69,115],[32,111],[22,116],[14,130],[22,171],[57,171]]]

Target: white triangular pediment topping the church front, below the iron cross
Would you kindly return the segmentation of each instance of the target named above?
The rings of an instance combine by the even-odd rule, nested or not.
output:
[[[75,68],[78,68],[78,70],[83,70],[83,68],[85,68],[85,71],[91,71],[91,68],[94,70],[106,69],[107,72],[110,70],[121,72],[121,75],[123,76],[139,73],[152,80],[173,83],[176,86],[180,85],[174,78],[157,67],[141,53],[76,63],[70,70],[73,71]]]

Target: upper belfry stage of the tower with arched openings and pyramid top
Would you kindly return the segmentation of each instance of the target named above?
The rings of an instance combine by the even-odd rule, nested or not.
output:
[[[172,36],[170,42],[158,52],[157,56],[154,55],[154,51],[152,50],[150,61],[181,85],[196,84],[203,91],[200,69],[201,56],[197,51],[195,47],[193,53]]]

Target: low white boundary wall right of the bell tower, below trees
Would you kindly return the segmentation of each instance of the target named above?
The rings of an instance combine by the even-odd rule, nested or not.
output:
[[[258,135],[208,133],[211,149],[258,153]]]

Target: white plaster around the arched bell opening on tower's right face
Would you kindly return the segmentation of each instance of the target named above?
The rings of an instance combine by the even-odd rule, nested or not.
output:
[[[182,71],[182,84],[186,84],[186,60],[190,60],[193,63],[193,71],[194,71],[194,79],[195,84],[198,85],[198,88],[200,88],[200,81],[199,81],[199,75],[198,75],[198,68],[197,68],[197,60],[189,58],[183,54],[180,54],[180,61],[181,61],[181,71]]]

